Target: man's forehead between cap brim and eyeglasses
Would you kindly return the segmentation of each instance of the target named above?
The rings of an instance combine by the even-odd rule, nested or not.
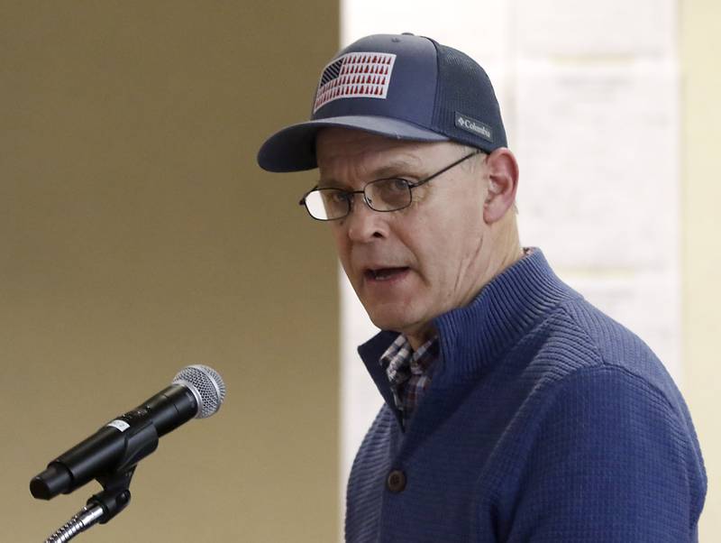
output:
[[[346,128],[325,128],[315,140],[322,177],[339,173],[392,174],[394,169],[423,171],[427,164],[452,153],[452,143],[408,142]]]

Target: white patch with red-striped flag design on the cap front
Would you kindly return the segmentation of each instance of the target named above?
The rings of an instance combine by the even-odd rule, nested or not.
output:
[[[333,60],[323,70],[313,113],[338,98],[386,98],[396,55],[353,52]]]

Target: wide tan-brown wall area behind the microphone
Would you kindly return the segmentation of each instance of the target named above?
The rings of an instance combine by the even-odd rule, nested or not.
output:
[[[163,437],[80,539],[330,541],[336,267],[255,165],[303,117],[338,7],[41,2],[0,10],[0,511],[40,541],[97,492],[28,491],[80,438],[202,362],[228,396]]]

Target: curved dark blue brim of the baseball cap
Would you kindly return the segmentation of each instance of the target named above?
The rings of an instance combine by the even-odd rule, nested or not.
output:
[[[269,171],[301,171],[317,168],[315,135],[325,127],[353,128],[397,140],[446,142],[449,138],[417,124],[389,117],[347,115],[291,124],[271,135],[260,147],[258,164]]]

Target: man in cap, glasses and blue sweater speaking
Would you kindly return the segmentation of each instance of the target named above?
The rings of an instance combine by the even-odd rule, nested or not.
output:
[[[680,392],[521,249],[516,159],[478,64],[409,34],[356,41],[259,163],[319,168],[301,203],[383,330],[359,349],[385,404],[348,541],[698,540],[706,474]]]

